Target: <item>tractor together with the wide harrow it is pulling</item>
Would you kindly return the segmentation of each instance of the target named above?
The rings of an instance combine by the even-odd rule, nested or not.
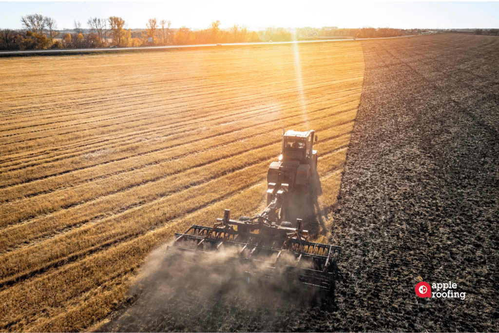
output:
[[[267,173],[267,206],[254,217],[231,219],[230,210],[211,226],[193,225],[175,234],[169,250],[216,256],[231,249],[235,260],[246,265],[248,281],[284,276],[286,281],[334,290],[335,263],[341,248],[310,242],[308,229],[315,229],[315,206],[321,194],[317,173],[315,131],[282,133],[281,153]],[[202,261],[199,261],[202,264]],[[252,267],[259,267],[258,273]]]

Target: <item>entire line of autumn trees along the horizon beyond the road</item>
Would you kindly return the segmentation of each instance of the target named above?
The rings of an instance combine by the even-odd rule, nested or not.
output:
[[[186,26],[171,28],[170,20],[150,18],[146,29],[132,31],[125,20],[118,16],[90,17],[87,28],[74,20],[71,32],[57,30],[55,19],[39,14],[21,17],[22,30],[0,29],[0,49],[129,47],[157,45],[189,45],[205,43],[234,43],[258,41],[291,41],[293,39],[351,36],[357,38],[393,37],[405,34],[393,28],[338,29],[337,27],[297,28],[293,33],[282,27],[250,31],[247,25],[234,24],[221,29],[220,21],[213,21],[202,30]]]

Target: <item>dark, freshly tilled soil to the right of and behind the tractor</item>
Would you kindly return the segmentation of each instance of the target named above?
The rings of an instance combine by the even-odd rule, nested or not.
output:
[[[499,331],[499,38],[363,49],[361,102],[330,212],[331,243],[343,247],[334,298],[309,305],[291,290],[249,301],[201,277],[134,291],[135,305],[100,330]],[[418,277],[452,282],[464,299],[419,298]]]

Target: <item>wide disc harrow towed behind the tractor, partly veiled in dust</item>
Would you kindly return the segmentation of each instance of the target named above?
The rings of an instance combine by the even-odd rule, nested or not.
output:
[[[301,223],[298,223],[298,228],[291,228],[267,223],[262,218],[254,222],[234,221],[229,219],[229,214],[226,211],[224,219],[217,219],[211,228],[193,225],[185,233],[175,234],[174,248],[213,256],[222,247],[233,247],[238,249],[235,257],[227,260],[240,260],[243,265],[249,265],[246,269],[250,274],[277,278],[287,272],[286,275],[294,276],[295,280],[307,286],[329,289],[333,285],[330,266],[335,260],[333,255],[339,253],[340,248],[309,242],[306,230],[300,230]],[[195,241],[197,246],[182,248],[184,241]],[[202,264],[204,261],[195,262]],[[310,263],[313,269],[305,268],[306,263]]]

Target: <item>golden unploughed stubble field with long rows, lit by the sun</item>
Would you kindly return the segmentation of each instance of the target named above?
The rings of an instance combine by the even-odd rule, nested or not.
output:
[[[261,208],[283,127],[317,131],[328,211],[364,62],[340,42],[5,58],[0,71],[0,330],[83,331],[174,232]]]

